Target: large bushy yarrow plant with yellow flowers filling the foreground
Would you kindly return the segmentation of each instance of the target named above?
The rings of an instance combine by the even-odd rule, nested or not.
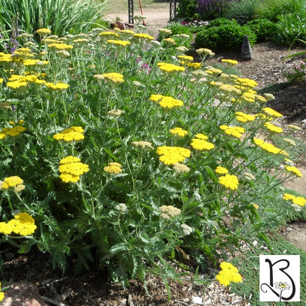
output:
[[[165,260],[180,261],[177,249],[217,267],[295,212],[287,200],[303,204],[277,187],[301,173],[293,143],[271,143],[282,116],[266,107],[273,96],[227,74],[235,61],[209,67],[213,53],[202,48],[194,63],[140,28],[41,31],[35,52],[0,54],[0,221],[18,211],[37,226],[19,240],[3,231],[1,241],[21,252],[36,244],[63,270],[96,265],[123,286],[145,285],[147,273],[182,278]],[[283,209],[266,204],[276,200]]]

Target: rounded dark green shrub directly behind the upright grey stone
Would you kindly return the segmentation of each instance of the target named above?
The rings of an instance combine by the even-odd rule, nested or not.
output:
[[[249,42],[253,45],[256,42],[256,35],[247,27],[241,27],[235,21],[222,25],[204,29],[195,37],[198,47],[212,49],[213,52],[219,51],[238,51],[241,50],[243,37],[247,35]]]

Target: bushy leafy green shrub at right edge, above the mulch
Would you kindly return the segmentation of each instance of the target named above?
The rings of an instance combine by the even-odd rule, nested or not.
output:
[[[276,23],[276,35],[273,41],[279,45],[291,46],[300,40],[306,40],[306,18],[296,14],[279,16]]]

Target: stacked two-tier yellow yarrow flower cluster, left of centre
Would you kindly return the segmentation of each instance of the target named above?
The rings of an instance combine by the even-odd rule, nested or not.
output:
[[[64,183],[76,183],[80,180],[80,175],[89,171],[86,164],[80,163],[78,157],[68,156],[60,161],[60,178]]]

